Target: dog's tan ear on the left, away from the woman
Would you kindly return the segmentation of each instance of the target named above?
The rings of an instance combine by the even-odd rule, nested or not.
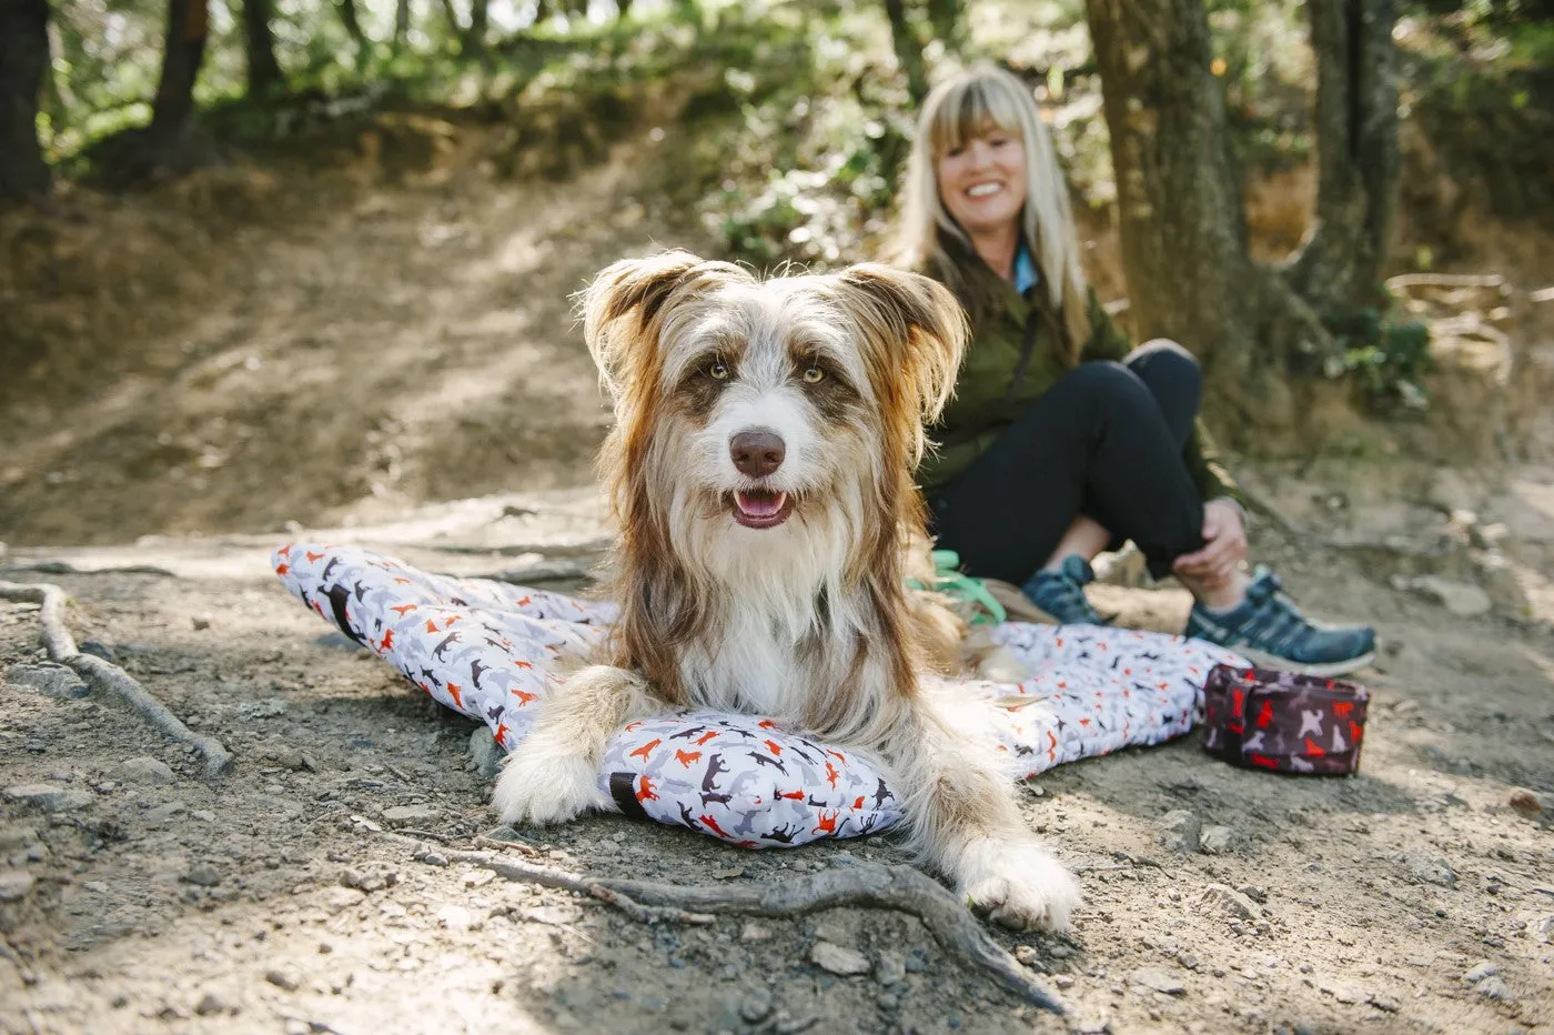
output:
[[[729,274],[744,275],[737,266],[681,250],[620,260],[600,270],[580,294],[580,309],[583,339],[611,396],[618,399],[625,385],[656,367],[664,314]]]

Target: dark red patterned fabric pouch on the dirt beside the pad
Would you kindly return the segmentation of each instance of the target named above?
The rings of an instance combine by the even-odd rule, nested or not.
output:
[[[1215,665],[1203,687],[1203,749],[1249,769],[1354,772],[1369,699],[1343,679]]]

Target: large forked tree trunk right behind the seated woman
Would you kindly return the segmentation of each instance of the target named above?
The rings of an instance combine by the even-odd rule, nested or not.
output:
[[[1284,421],[1288,361],[1332,353],[1318,314],[1374,298],[1386,258],[1397,182],[1386,0],[1310,5],[1322,70],[1319,219],[1284,269],[1248,253],[1203,0],[1086,0],[1086,8],[1136,331],[1198,353],[1217,395],[1243,415]]]

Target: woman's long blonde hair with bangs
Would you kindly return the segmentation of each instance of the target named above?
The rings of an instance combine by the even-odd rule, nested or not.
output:
[[[1026,149],[1021,232],[1041,270],[1041,289],[1047,292],[1054,312],[1061,314],[1068,340],[1061,342],[1060,351],[1068,362],[1075,362],[1091,334],[1089,288],[1078,263],[1078,233],[1069,208],[1068,182],[1035,98],[1009,71],[979,65],[940,82],[923,101],[917,138],[906,163],[901,224],[892,260],[943,280],[971,309],[974,322],[985,315],[977,309],[987,300],[977,297],[965,269],[967,260],[976,255],[971,238],[945,210],[934,169],[945,151],[993,127],[1018,137]],[[946,252],[946,241],[959,246],[960,258]]]

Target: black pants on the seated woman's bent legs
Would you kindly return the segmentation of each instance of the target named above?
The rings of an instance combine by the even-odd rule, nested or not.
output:
[[[1080,364],[928,500],[939,545],[971,575],[1023,584],[1086,514],[1167,575],[1203,547],[1203,496],[1183,460],[1201,396],[1179,345]]]

